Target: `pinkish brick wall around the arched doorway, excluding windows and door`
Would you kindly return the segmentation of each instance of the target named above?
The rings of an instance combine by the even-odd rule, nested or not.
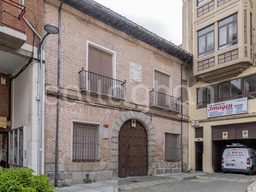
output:
[[[45,1],[45,23],[58,21],[58,1]],[[127,80],[126,101],[113,104],[90,94],[80,93],[78,72],[86,67],[86,41],[97,43],[116,52],[116,78]],[[57,86],[57,35],[45,41],[45,173],[53,179],[56,127],[56,86]],[[142,82],[130,81],[130,63],[142,66]],[[153,70],[165,71],[171,76],[171,93],[180,97],[180,66],[175,57],[150,47],[117,29],[103,24],[66,4],[62,12],[62,48],[60,86],[60,137],[59,171],[60,182],[79,183],[89,173],[91,178],[104,180],[117,176],[118,164],[114,163],[111,148],[112,126],[124,111],[141,111],[150,119],[155,130],[155,157],[150,159],[149,174],[173,173],[180,171],[180,162],[166,162],[163,159],[164,132],[180,133],[180,114],[149,108],[149,91],[153,88]],[[187,78],[185,71],[184,79]],[[133,89],[138,88],[137,92]],[[134,96],[132,95],[134,94]],[[136,98],[136,99],[134,99]],[[104,104],[103,104],[104,103]],[[103,105],[102,105],[103,104]],[[188,106],[185,104],[185,119]],[[75,163],[71,158],[72,121],[100,124],[99,162]],[[103,124],[109,124],[109,139],[103,139]],[[188,123],[183,123],[183,158],[188,162]]]

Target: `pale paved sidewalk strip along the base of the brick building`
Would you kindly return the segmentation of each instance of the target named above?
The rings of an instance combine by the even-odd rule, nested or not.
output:
[[[184,180],[200,181],[225,181],[229,183],[252,183],[256,181],[256,176],[242,174],[222,174],[222,173],[170,173],[156,176],[134,176],[130,178],[119,178],[118,180],[98,181],[91,184],[79,184],[64,188],[58,188],[58,192],[116,192],[120,190],[132,190],[145,188],[147,186],[168,185],[168,183],[183,182]],[[249,192],[256,192],[256,182],[247,189]]]

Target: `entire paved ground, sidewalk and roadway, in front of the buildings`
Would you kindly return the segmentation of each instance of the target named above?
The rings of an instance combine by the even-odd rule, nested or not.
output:
[[[256,176],[222,173],[176,173],[142,176],[59,188],[58,192],[245,192]]]

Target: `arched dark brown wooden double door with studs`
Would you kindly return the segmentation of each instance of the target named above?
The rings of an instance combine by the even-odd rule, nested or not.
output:
[[[125,122],[119,131],[119,177],[147,175],[147,131],[136,121]]]

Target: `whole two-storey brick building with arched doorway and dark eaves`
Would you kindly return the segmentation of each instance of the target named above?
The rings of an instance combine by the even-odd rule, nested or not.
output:
[[[64,2],[58,182],[80,183],[87,173],[96,180],[176,173],[181,162],[186,169],[186,82],[192,56],[94,1]],[[45,23],[58,22],[59,6],[60,1],[45,0]],[[45,43],[44,158],[51,180],[57,42],[51,36]]]

